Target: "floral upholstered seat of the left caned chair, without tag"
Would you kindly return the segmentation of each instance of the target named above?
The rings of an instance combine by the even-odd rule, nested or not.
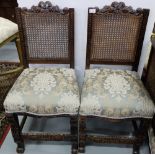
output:
[[[73,69],[25,69],[8,93],[7,113],[77,114],[79,89]]]

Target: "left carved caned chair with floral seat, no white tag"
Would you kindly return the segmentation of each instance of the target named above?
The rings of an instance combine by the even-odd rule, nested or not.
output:
[[[59,9],[40,2],[31,9],[16,9],[24,71],[8,93],[4,107],[17,152],[24,140],[70,141],[77,153],[79,89],[74,68],[74,9]],[[63,67],[29,67],[30,64],[66,64]],[[19,124],[18,116],[24,116]],[[70,118],[71,133],[22,131],[27,116]]]

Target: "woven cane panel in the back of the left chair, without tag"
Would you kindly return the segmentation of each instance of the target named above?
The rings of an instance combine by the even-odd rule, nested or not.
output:
[[[22,14],[29,58],[69,58],[69,14]]]

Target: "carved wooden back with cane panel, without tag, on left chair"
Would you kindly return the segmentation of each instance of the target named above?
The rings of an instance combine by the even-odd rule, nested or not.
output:
[[[74,67],[74,9],[59,9],[49,1],[31,9],[17,8],[24,66],[70,64]]]

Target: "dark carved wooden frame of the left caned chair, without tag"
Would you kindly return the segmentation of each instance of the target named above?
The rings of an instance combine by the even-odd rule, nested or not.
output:
[[[51,5],[50,2],[45,2],[47,5]],[[74,68],[74,9],[73,8],[64,8],[60,10],[58,6],[52,6],[52,11],[47,10],[42,7],[41,5],[45,5],[44,2],[40,2],[38,6],[33,6],[31,9],[27,8],[17,8],[16,9],[16,16],[17,22],[19,26],[19,34],[20,34],[20,41],[22,46],[22,58],[24,68],[28,68],[29,63],[39,63],[39,64],[70,64],[70,68]],[[23,21],[21,18],[22,12],[34,12],[34,13],[42,13],[42,14],[69,14],[69,57],[70,59],[60,59],[60,60],[46,60],[46,59],[30,59],[27,54],[27,44],[26,38],[23,31]],[[77,115],[69,115],[69,114],[61,114],[61,115],[34,115],[28,113],[6,113],[6,116],[11,124],[11,131],[14,138],[15,143],[17,143],[17,153],[24,153],[24,140],[41,140],[41,141],[71,141],[72,143],[72,153],[77,153],[78,149],[78,114]],[[23,116],[21,123],[19,123],[18,116]],[[26,122],[27,117],[33,118],[60,118],[60,117],[68,117],[70,118],[70,134],[64,133],[55,133],[52,132],[22,132],[24,124]]]

